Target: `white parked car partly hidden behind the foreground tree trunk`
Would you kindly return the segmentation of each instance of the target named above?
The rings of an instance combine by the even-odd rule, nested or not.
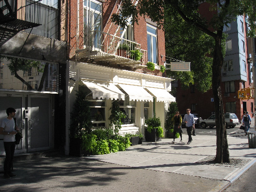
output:
[[[235,113],[225,113],[225,126],[226,128],[234,128],[236,125],[239,124],[238,117]],[[213,128],[216,126],[215,123],[215,114],[211,115],[208,119],[203,119],[199,121],[199,124],[202,128]]]

